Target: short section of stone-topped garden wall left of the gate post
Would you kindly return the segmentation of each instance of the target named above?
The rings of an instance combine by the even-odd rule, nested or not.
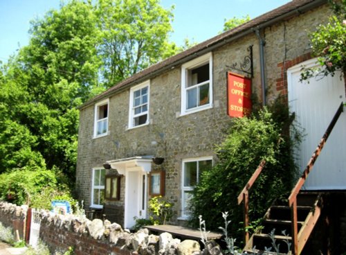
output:
[[[28,206],[17,206],[8,202],[0,202],[0,222],[4,227],[12,227],[13,234],[19,231],[19,238],[24,239],[26,214]]]

